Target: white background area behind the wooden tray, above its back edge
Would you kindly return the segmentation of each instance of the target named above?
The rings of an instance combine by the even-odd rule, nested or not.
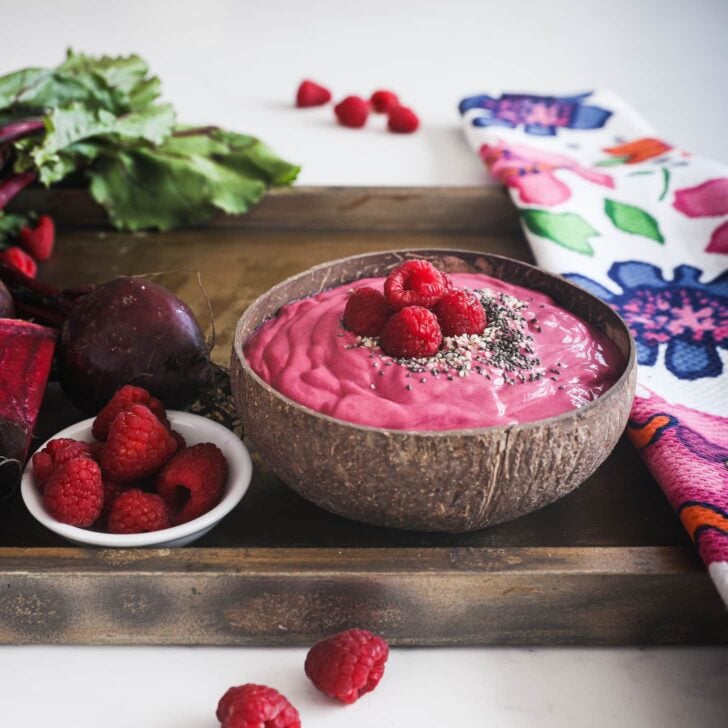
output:
[[[256,134],[304,184],[479,184],[457,126],[465,95],[619,92],[678,146],[728,162],[725,0],[0,0],[0,72],[65,48],[137,51],[182,121]],[[419,134],[337,127],[296,110],[299,81],[336,98],[385,86]]]

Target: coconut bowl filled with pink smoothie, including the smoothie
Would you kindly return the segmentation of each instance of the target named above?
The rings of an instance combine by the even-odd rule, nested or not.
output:
[[[381,299],[414,260],[477,301],[476,333],[448,332],[457,296],[445,296],[417,307],[420,328],[437,314],[440,338],[406,354],[393,320],[409,314],[390,284],[380,336],[345,325],[357,289]],[[356,520],[450,532],[582,483],[624,430],[636,373],[630,334],[602,301],[526,263],[452,250],[355,256],[278,284],[238,322],[231,367],[246,435],[290,487]]]

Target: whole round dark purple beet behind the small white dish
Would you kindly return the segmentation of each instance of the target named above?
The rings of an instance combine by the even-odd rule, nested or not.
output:
[[[124,384],[184,407],[212,381],[210,354],[184,301],[142,278],[116,278],[80,298],[61,331],[58,375],[80,409],[98,412]]]

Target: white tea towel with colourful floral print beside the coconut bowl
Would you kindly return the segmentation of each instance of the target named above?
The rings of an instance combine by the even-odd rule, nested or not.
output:
[[[472,96],[460,113],[538,264],[630,326],[627,432],[728,603],[728,166],[604,91]]]

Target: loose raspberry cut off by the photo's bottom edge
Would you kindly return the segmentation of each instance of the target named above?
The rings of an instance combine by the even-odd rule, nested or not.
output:
[[[230,688],[220,698],[216,715],[222,728],[301,728],[298,711],[266,685]]]

